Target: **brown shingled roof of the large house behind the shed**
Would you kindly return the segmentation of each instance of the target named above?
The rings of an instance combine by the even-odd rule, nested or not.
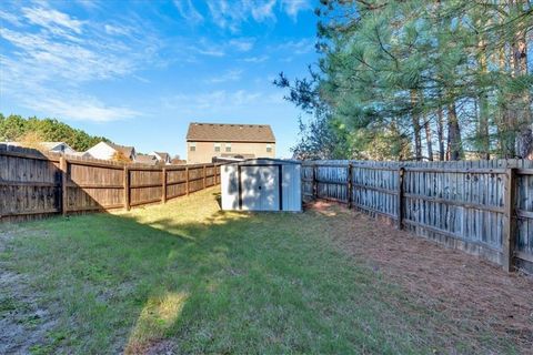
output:
[[[269,124],[192,122],[187,141],[275,143],[275,138]]]

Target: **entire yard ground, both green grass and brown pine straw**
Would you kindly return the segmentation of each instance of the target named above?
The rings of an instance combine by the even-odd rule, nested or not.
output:
[[[0,226],[0,353],[527,353],[531,278],[336,204],[219,190]]]

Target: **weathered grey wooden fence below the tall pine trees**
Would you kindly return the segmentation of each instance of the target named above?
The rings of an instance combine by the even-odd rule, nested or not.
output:
[[[532,161],[309,161],[302,189],[507,271],[533,272]]]

